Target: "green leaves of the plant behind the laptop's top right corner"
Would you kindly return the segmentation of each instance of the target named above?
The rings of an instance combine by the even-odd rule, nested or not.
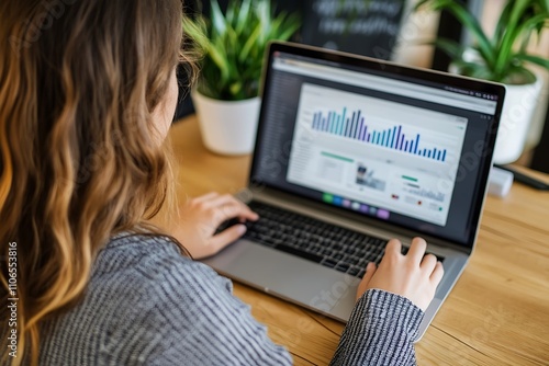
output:
[[[541,31],[549,26],[549,0],[508,0],[492,37],[484,33],[479,20],[458,1],[422,0],[416,10],[424,7],[449,11],[472,35],[473,59],[467,57],[468,47],[457,42],[435,42],[450,56],[459,73],[507,84],[525,84],[536,79],[527,69],[528,64],[549,70],[548,59],[529,54],[526,49],[534,36],[539,38]]]

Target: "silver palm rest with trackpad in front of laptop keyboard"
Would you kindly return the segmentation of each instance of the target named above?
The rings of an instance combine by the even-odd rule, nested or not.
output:
[[[238,282],[316,311],[332,312],[330,317],[343,321],[350,314],[359,283],[356,277],[248,240],[239,240],[220,254],[203,262]],[[339,305],[333,313],[341,298],[350,308]]]

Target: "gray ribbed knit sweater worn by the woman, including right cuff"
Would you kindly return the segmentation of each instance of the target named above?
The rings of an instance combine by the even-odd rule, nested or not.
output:
[[[382,290],[358,301],[333,365],[415,364],[423,313]],[[161,237],[113,239],[93,266],[86,296],[48,320],[40,365],[290,365],[232,284],[183,258]]]

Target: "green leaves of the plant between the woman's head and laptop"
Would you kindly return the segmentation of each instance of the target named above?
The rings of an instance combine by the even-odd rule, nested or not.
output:
[[[269,41],[287,41],[300,25],[296,15],[274,16],[270,0],[234,0],[225,14],[212,0],[210,20],[183,20],[183,32],[203,53],[198,91],[227,101],[257,96]]]

